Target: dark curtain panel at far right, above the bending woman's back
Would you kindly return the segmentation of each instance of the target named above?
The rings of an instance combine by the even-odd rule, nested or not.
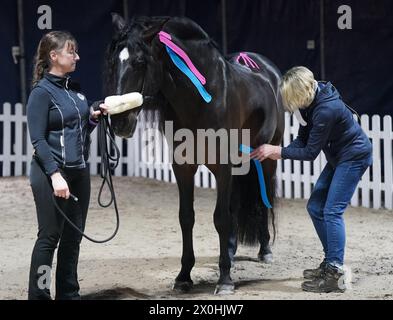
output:
[[[337,26],[342,4],[326,5],[326,76],[359,113],[393,115],[393,2],[346,1],[352,30]]]

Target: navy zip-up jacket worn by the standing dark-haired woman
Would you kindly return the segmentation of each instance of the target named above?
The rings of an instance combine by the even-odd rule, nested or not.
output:
[[[46,73],[30,93],[30,139],[35,157],[49,176],[59,168],[86,167],[95,123],[86,97],[78,91],[69,77]]]

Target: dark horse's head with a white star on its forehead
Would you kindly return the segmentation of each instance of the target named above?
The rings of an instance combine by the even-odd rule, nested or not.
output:
[[[112,15],[114,35],[108,48],[106,89],[108,94],[140,92],[144,104],[136,109],[111,116],[116,135],[129,138],[134,134],[138,114],[158,95],[162,83],[162,66],[154,58],[151,42],[168,18],[142,19],[126,24]]]

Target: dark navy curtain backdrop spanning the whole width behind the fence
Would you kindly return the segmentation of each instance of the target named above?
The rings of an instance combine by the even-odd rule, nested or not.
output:
[[[295,65],[311,68],[320,78],[320,1],[226,0],[228,52],[255,51],[267,56],[282,72]],[[128,15],[187,16],[222,44],[221,0],[128,0]],[[340,30],[337,9],[343,2],[324,1],[326,80],[359,113],[393,115],[393,2],[347,0],[353,29]],[[110,41],[111,12],[123,14],[122,0],[24,1],[26,74],[41,36],[40,5],[52,8],[53,29],[69,30],[79,42],[81,61],[73,77],[90,100],[102,98],[104,51]],[[0,3],[2,102],[20,101],[19,66],[11,56],[18,43],[17,1]],[[314,44],[314,47],[312,45]],[[311,45],[311,47],[310,47]],[[29,88],[28,88],[29,89]]]

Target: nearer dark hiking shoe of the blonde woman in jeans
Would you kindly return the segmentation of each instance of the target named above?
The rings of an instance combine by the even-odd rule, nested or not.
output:
[[[344,272],[334,266],[327,265],[321,277],[302,283],[303,291],[316,293],[344,292]]]

